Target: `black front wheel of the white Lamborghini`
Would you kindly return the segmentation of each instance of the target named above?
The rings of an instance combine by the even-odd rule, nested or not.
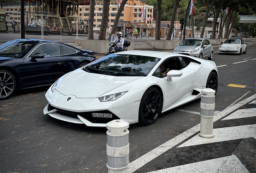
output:
[[[139,123],[153,124],[163,108],[161,93],[156,88],[149,88],[140,101]]]

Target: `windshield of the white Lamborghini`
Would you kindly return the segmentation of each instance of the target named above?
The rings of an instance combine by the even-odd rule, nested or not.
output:
[[[85,66],[83,70],[110,76],[147,76],[161,58],[110,54]]]

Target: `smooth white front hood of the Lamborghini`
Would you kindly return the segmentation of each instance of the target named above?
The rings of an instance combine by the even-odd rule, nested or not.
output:
[[[77,69],[64,78],[57,91],[77,98],[96,98],[138,78],[141,76],[108,76]]]

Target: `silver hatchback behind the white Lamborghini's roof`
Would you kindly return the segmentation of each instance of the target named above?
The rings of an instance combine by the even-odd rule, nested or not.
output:
[[[213,59],[213,46],[205,38],[186,38],[176,45],[173,53],[180,53],[198,58]]]

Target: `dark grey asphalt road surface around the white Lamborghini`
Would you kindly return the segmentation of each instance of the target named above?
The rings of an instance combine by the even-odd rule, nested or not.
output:
[[[221,66],[218,67],[219,83],[223,84],[219,85],[215,97],[217,112],[255,95],[255,89],[225,86],[239,84],[255,88],[256,39],[246,40],[246,44],[247,54],[242,55],[219,55],[216,52],[218,48],[214,48],[213,61]],[[107,129],[66,123],[44,115],[47,89],[39,87],[18,91],[10,99],[0,101],[0,172],[106,173]],[[131,165],[156,147],[198,125],[198,113],[200,99],[163,113],[153,125],[130,125]],[[228,125],[239,123],[255,124],[256,118],[233,121]],[[216,121],[214,128],[225,125]],[[231,155],[240,145],[241,140],[233,140],[209,144],[202,151],[197,147],[183,151],[170,149],[134,172],[146,173]],[[253,173],[255,167],[254,162],[247,169]]]

